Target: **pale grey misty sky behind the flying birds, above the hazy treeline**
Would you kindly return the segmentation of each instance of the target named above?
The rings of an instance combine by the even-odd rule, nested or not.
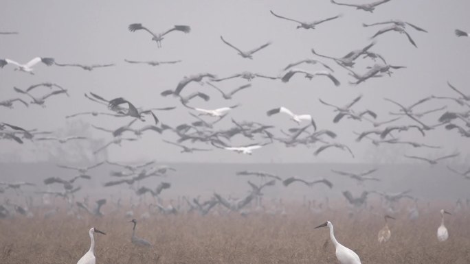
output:
[[[346,0],[347,1],[347,0]],[[345,2],[346,2],[345,1]],[[363,3],[366,1],[354,1]],[[331,163],[374,163],[374,162],[414,162],[402,158],[402,154],[437,157],[454,152],[462,155],[454,160],[464,163],[470,158],[469,140],[454,131],[437,128],[427,132],[425,138],[418,132],[401,133],[400,139],[417,141],[429,145],[440,145],[442,149],[418,149],[411,146],[383,145],[375,147],[368,141],[356,143],[353,131],[372,129],[365,121],[345,119],[333,123],[335,113],[320,104],[318,98],[331,104],[343,106],[358,95],[363,95],[354,109],[377,112],[378,121],[390,119],[388,112],[398,110],[383,100],[388,97],[405,105],[410,105],[429,95],[452,96],[456,93],[448,88],[449,81],[465,93],[470,93],[466,79],[470,60],[469,38],[457,38],[454,29],[470,30],[467,10],[470,2],[456,1],[404,1],[392,0],[380,5],[374,13],[333,5],[328,0],[317,1],[2,1],[0,9],[0,32],[17,31],[18,35],[0,35],[0,58],[10,58],[27,62],[36,56],[52,57],[58,63],[107,64],[115,67],[83,71],[75,67],[46,67],[38,64],[36,75],[13,71],[12,65],[0,69],[0,101],[18,97],[13,86],[25,89],[39,82],[55,82],[68,89],[70,97],[58,95],[46,101],[46,108],[30,105],[25,108],[0,108],[0,121],[19,125],[23,128],[40,130],[67,130],[80,120],[84,123],[115,129],[130,117],[81,116],[65,119],[66,115],[96,110],[105,112],[104,106],[86,99],[83,94],[93,92],[105,98],[124,97],[136,106],[166,107],[177,106],[168,112],[156,112],[161,122],[177,126],[192,121],[188,108],[184,108],[174,97],[161,97],[161,91],[176,88],[178,82],[187,75],[209,72],[218,77],[226,77],[241,71],[252,71],[264,75],[278,76],[291,62],[304,58],[318,58],[311,49],[330,56],[342,57],[349,51],[360,49],[370,43],[372,36],[381,26],[362,27],[362,23],[375,23],[389,19],[401,19],[427,29],[429,33],[417,32],[407,27],[418,48],[397,32],[383,34],[377,38],[377,45],[371,50],[380,53],[392,65],[406,66],[395,70],[392,77],[372,78],[358,86],[350,86],[353,81],[347,72],[335,62],[318,58],[335,69],[335,76],[342,82],[334,86],[324,77],[309,81],[302,75],[295,75],[287,84],[280,80],[254,79],[250,88],[234,95],[226,101],[208,85],[190,84],[183,93],[202,91],[211,96],[210,101],[200,99],[191,105],[200,108],[219,108],[241,104],[221,121],[216,129],[230,128],[230,118],[237,121],[258,121],[276,125],[278,129],[298,126],[285,115],[267,117],[266,111],[285,106],[296,113],[313,115],[318,128],[337,132],[333,142],[350,145],[356,158],[339,149],[328,149],[313,156],[318,147],[284,147],[275,143],[254,151],[252,156],[214,149],[212,152],[180,154],[178,147],[167,145],[161,139],[176,141],[177,136],[170,132],[163,135],[144,134],[142,139],[132,143],[122,143],[122,147],[109,147],[111,160],[159,160],[191,162],[331,162]],[[340,19],[318,25],[316,29],[295,29],[293,22],[278,19],[277,14],[300,21],[315,21],[337,14]],[[172,32],[158,49],[150,35],[143,31],[128,32],[131,23],[142,23],[155,32],[164,32],[173,25],[190,25],[189,34]],[[234,49],[224,45],[220,36],[243,50],[253,49],[267,41],[272,45],[254,54],[254,60],[237,55]],[[182,60],[179,64],[164,64],[150,67],[145,64],[128,64],[128,60]],[[365,73],[372,60],[360,60],[355,71]],[[319,65],[301,65],[308,71],[320,70]],[[231,91],[246,84],[243,79],[219,82],[225,91]],[[35,95],[45,93],[48,88],[38,88]],[[22,97],[23,98],[23,97]],[[29,98],[24,97],[25,99]],[[462,111],[451,101],[428,101],[417,110],[429,110],[447,106],[447,110]],[[427,124],[437,123],[443,111],[423,118]],[[211,119],[211,117],[207,117]],[[139,128],[146,123],[138,121]],[[403,118],[396,124],[413,123]],[[89,130],[93,138],[111,141],[111,135]],[[78,135],[79,136],[79,135]],[[133,136],[132,134],[130,136]],[[232,145],[256,143],[235,136]],[[80,143],[72,143],[78,144]],[[49,144],[54,145],[54,144]],[[85,148],[91,155],[98,146]],[[194,147],[208,147],[197,143]],[[212,146],[209,146],[212,148]],[[73,150],[71,150],[73,151]],[[20,154],[23,161],[43,160],[47,149],[26,142],[19,145],[10,141],[0,141],[2,157]],[[76,160],[69,160],[74,162]]]

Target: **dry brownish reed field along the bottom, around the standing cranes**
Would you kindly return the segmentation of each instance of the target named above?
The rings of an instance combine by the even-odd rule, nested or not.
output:
[[[152,215],[137,224],[137,236],[151,248],[131,243],[132,224],[123,213],[76,219],[59,211],[45,219],[0,220],[0,263],[76,263],[89,249],[88,230],[96,227],[96,263],[339,263],[328,228],[332,221],[339,243],[355,250],[362,263],[470,263],[469,211],[446,217],[449,239],[438,242],[440,208],[421,208],[418,219],[407,213],[389,221],[392,237],[379,244],[377,233],[383,215],[364,210],[355,215],[348,208],[314,214],[302,206],[289,206],[288,214],[254,214],[243,217],[197,214]],[[136,215],[139,215],[138,213]]]

